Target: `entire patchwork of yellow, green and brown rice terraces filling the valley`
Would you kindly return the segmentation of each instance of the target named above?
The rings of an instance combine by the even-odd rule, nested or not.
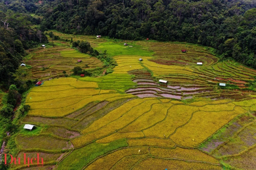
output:
[[[256,70],[193,44],[52,32],[67,41],[26,59],[44,81],[27,94],[30,110],[19,124],[36,128],[15,137],[16,156],[38,152],[55,170],[255,169],[256,93],[245,88]],[[102,65],[72,49],[71,38],[107,50],[118,66],[100,77],[64,77],[75,66]]]

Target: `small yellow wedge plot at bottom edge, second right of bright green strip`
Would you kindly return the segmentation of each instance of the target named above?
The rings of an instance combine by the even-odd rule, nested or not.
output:
[[[148,154],[144,155],[132,155],[132,156],[126,156],[119,160],[112,168],[111,170],[130,170],[133,165],[135,165],[139,160],[143,160],[146,157],[148,157]]]

